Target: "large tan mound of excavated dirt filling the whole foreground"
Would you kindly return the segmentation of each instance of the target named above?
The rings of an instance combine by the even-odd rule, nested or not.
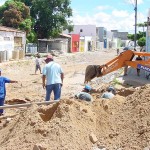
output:
[[[150,144],[150,85],[113,100],[65,99],[22,110],[0,130],[1,150],[141,150]]]

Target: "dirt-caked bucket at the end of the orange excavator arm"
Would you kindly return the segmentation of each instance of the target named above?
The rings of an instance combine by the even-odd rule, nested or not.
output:
[[[88,83],[93,78],[98,77],[101,74],[100,65],[88,65],[85,70],[84,83]]]

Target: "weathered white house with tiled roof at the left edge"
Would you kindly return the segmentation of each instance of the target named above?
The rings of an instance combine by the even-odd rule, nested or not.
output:
[[[0,62],[24,57],[26,33],[0,26]]]

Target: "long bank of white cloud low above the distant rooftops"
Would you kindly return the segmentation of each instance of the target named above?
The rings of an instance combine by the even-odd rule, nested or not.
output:
[[[138,23],[144,22],[145,16],[138,13]],[[75,25],[93,24],[97,27],[105,27],[107,30],[118,30],[123,32],[134,33],[135,14],[127,11],[113,10],[111,14],[99,12],[93,16],[88,14],[81,16],[74,14],[73,22]],[[138,29],[139,30],[139,29]]]

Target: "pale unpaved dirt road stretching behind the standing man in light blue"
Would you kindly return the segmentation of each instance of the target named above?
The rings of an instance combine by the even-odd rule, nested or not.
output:
[[[54,60],[62,66],[65,74],[62,97],[73,95],[82,90],[87,65],[104,64],[114,58],[115,55],[116,52],[111,50],[63,54],[59,57],[54,57]],[[44,64],[42,64],[43,66]],[[36,75],[34,74],[34,58],[1,63],[0,67],[3,76],[18,81],[18,84],[7,85],[6,100],[29,99],[31,101],[44,101],[45,89],[42,88],[42,75],[39,72]]]

